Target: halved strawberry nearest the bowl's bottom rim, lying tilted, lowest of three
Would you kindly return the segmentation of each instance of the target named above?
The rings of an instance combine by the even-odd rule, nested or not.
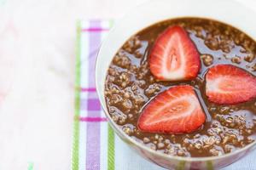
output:
[[[138,127],[148,133],[190,133],[206,120],[194,89],[189,85],[167,89],[143,109]]]

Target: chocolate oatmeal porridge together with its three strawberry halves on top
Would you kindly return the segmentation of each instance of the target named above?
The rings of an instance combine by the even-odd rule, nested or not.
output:
[[[166,29],[170,32],[177,29],[181,36],[178,37],[177,33],[171,35]],[[188,37],[181,30],[184,30]],[[175,41],[166,40],[166,35],[173,37]],[[188,38],[190,40],[187,40]],[[189,60],[186,62],[195,62],[193,65],[198,66],[194,70],[191,70],[191,66],[189,67],[190,76],[189,74],[183,77],[177,75],[177,78],[172,79],[173,74],[169,77],[169,74],[163,75],[163,72],[157,70],[162,69],[163,63],[168,63],[157,59],[166,56],[166,53],[172,53],[172,50],[161,49],[163,51],[159,51],[158,48],[166,48],[173,43],[177,46],[175,49],[180,49],[181,47],[176,43],[180,39],[184,40],[183,51],[185,52],[178,53],[191,54],[193,57],[198,54],[199,62],[196,63],[195,58],[186,58]],[[163,42],[167,45],[163,46]],[[161,44],[158,45],[159,47],[154,47],[157,43]],[[158,50],[157,54],[154,54],[156,50]],[[174,56],[177,51],[173,51]],[[156,57],[152,59],[154,55]],[[113,121],[132,139],[147,145],[152,150],[168,155],[221,156],[241,149],[256,139],[256,89],[250,88],[256,82],[255,56],[256,42],[252,38],[218,21],[181,18],[157,23],[131,37],[114,56],[108,69],[105,86],[108,112]],[[183,65],[183,60],[179,63],[173,57],[170,62],[176,64],[171,65],[170,68]],[[227,76],[223,76],[222,73]],[[163,76],[159,76],[160,74]],[[245,88],[243,91],[241,91],[241,84],[234,85],[239,84],[236,83],[236,78],[233,78],[235,74],[247,77],[245,82],[248,83],[242,84]],[[229,98],[227,94],[224,96],[224,94],[220,95],[216,94],[216,91],[211,91],[214,80],[221,76],[232,77],[227,79],[228,81],[222,88],[231,93],[229,95],[232,96]],[[241,83],[243,83],[242,78]],[[232,89],[229,88],[230,85]],[[144,121],[144,117],[156,114],[149,113],[153,108],[157,112],[156,106],[167,107],[168,102],[160,103],[160,98],[165,100],[170,97],[170,101],[177,99],[177,94],[175,94],[179,91],[177,87],[183,88],[183,93],[184,89],[188,88],[189,93],[196,96],[196,101],[191,100],[190,103],[194,102],[199,108],[195,114],[193,113],[197,118],[195,120],[195,116],[189,116],[186,120],[193,120],[198,123],[198,126],[195,126],[196,123],[181,126],[181,122],[189,124],[184,120],[181,120],[179,124],[175,122],[177,127],[173,127],[171,121],[165,122],[170,124],[169,127],[164,127],[165,123],[160,127],[152,119]],[[238,88],[241,94],[234,94]],[[235,90],[232,91],[233,89]],[[185,93],[187,94],[187,91]],[[164,114],[187,111],[186,108],[178,108],[178,102],[180,101],[175,104],[177,107]],[[186,105],[191,106],[190,103]],[[159,115],[160,113],[157,116]],[[157,126],[154,127],[154,123]]]

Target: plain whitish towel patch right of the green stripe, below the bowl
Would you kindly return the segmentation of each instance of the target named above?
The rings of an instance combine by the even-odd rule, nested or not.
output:
[[[138,156],[134,150],[131,150],[119,136],[115,134],[115,169],[116,170],[165,170],[153,163],[146,161],[143,157]]]

